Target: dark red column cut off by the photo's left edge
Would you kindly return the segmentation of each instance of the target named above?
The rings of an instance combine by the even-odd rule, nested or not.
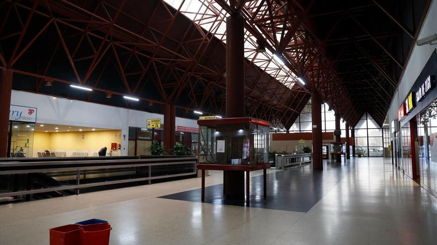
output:
[[[0,69],[0,157],[7,157],[7,138],[9,132],[10,94],[12,92],[10,69]]]

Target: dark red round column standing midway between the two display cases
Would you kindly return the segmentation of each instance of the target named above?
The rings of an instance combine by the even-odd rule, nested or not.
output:
[[[312,168],[317,170],[323,170],[321,104],[320,95],[313,89],[311,92]]]

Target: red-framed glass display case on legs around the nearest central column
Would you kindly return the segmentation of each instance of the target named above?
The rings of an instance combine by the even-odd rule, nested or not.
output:
[[[205,170],[223,171],[225,198],[244,198],[246,172],[246,205],[249,206],[249,172],[264,169],[264,198],[266,198],[266,169],[269,163],[270,123],[251,118],[198,120],[200,155],[198,169],[202,170],[202,201],[205,201]]]

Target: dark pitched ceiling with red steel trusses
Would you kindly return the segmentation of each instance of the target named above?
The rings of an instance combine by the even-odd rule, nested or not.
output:
[[[311,91],[352,126],[365,111],[382,126],[431,1],[202,2],[214,14],[199,18],[218,23],[238,12],[248,35],[308,81],[288,88],[245,60],[246,115],[288,129]],[[225,44],[184,14],[162,0],[2,1],[0,66],[14,71],[14,89],[151,112],[175,104],[189,118],[193,110],[224,115]]]

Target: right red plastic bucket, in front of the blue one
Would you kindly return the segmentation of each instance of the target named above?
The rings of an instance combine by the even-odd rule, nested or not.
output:
[[[109,245],[112,230],[108,223],[79,226],[81,245]]]

